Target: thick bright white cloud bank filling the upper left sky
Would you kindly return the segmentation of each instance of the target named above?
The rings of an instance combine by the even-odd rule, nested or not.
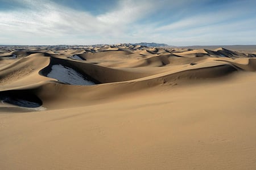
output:
[[[153,8],[149,1],[127,0],[120,1],[114,11],[93,16],[50,1],[14,1],[28,8],[0,12],[0,35],[13,33],[17,37],[22,34],[36,39],[40,39],[39,36],[120,36],[126,32],[127,24]]]

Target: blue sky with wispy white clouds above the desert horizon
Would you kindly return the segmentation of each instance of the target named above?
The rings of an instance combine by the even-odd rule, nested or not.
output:
[[[0,0],[0,44],[255,45],[255,0]]]

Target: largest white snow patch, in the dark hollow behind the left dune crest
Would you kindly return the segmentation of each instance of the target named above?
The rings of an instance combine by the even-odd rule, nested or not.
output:
[[[94,82],[86,80],[86,78],[84,78],[82,74],[77,73],[77,71],[63,65],[52,65],[52,71],[47,76],[67,84],[88,86],[95,84]]]

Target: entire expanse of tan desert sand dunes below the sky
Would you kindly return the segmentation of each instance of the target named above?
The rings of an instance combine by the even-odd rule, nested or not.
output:
[[[1,46],[0,169],[255,169],[255,57]]]

